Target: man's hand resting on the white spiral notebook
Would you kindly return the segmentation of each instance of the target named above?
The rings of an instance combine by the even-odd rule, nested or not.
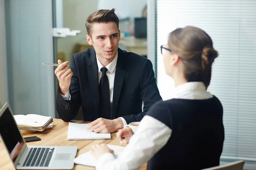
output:
[[[87,130],[90,129],[91,131],[96,133],[111,133],[118,129],[123,128],[123,126],[124,124],[122,122],[122,119],[118,118],[114,120],[109,120],[99,118],[88,124]]]

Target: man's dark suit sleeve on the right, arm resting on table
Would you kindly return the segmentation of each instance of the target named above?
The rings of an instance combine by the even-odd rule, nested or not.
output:
[[[149,108],[154,105],[154,103],[162,100],[154,77],[153,66],[149,59],[145,60],[140,72],[140,98],[143,100],[144,104],[143,112],[137,115],[132,114],[122,116],[127,124],[131,122],[140,122]]]

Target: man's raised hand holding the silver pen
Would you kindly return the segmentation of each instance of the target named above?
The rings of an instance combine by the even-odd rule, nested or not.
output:
[[[54,73],[59,81],[59,92],[61,95],[65,95],[69,91],[73,73],[71,69],[67,67],[68,61],[62,62],[58,59],[58,64],[60,65],[55,69]]]

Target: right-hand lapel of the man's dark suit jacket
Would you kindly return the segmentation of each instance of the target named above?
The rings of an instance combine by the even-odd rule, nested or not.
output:
[[[113,102],[112,102],[112,118],[116,117],[117,106],[119,102],[119,97],[122,90],[122,84],[125,78],[125,57],[124,52],[119,48],[118,49],[118,58],[116,62],[116,73],[114,80],[114,89],[113,89]]]

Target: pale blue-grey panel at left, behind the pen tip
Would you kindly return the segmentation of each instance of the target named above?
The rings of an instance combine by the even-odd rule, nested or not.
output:
[[[55,117],[52,1],[5,0],[9,104],[14,114]],[[0,80],[2,81],[2,80]]]

